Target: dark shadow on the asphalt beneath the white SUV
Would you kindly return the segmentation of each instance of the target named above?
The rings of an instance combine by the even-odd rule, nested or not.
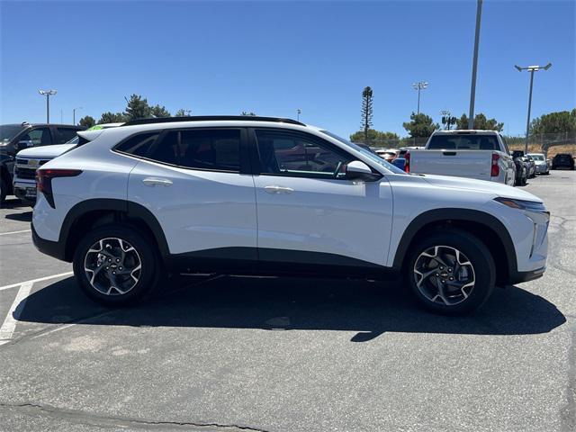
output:
[[[186,286],[188,285],[188,286]],[[446,317],[419,309],[398,283],[219,276],[170,284],[127,309],[88,300],[73,278],[32,293],[18,320],[49,324],[354,331],[353,342],[386,332],[469,335],[546,333],[566,319],[553,303],[516,286],[496,289],[480,311]]]

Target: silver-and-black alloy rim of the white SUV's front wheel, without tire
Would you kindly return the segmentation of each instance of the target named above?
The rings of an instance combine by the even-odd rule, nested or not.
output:
[[[473,264],[461,251],[450,246],[429,247],[414,264],[414,281],[430,302],[455,306],[474,289]]]

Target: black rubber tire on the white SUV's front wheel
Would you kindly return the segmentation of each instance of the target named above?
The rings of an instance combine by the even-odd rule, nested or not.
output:
[[[435,281],[432,280],[432,278],[436,278],[436,275],[438,274],[440,277],[436,278],[436,283],[438,283],[438,280],[442,277],[445,277],[446,280],[448,279],[447,276],[450,274],[446,273],[447,271],[454,271],[455,273],[452,275],[456,275],[456,272],[462,275],[463,271],[456,270],[458,268],[457,266],[454,268],[446,268],[443,272],[439,271],[438,274],[434,273],[431,275],[423,284],[421,284],[421,286],[424,287],[423,289],[420,289],[418,286],[420,281],[417,281],[417,279],[420,278],[420,276],[415,272],[415,266],[422,262],[419,261],[420,254],[434,250],[437,246],[446,247],[446,249],[439,248],[437,251],[439,252],[438,255],[443,257],[443,261],[449,266],[453,266],[455,263],[454,261],[450,262],[448,259],[450,256],[443,254],[442,251],[449,251],[451,248],[457,249],[460,254],[464,254],[464,259],[467,258],[467,260],[464,260],[463,262],[469,262],[472,266],[471,271],[470,266],[464,266],[461,263],[461,267],[465,267],[464,274],[468,275],[466,278],[467,280],[462,282],[462,284],[465,286],[465,284],[469,283],[471,278],[473,278],[472,289],[470,290],[468,288],[466,290],[466,295],[464,295],[464,288],[462,290],[455,289],[455,291],[449,292],[450,288],[447,284],[455,284],[456,282],[448,282],[444,285],[447,290],[445,294],[449,294],[445,295],[444,298],[448,298],[450,302],[453,302],[454,304],[446,304],[444,301],[433,301],[439,297],[439,295],[436,295],[435,297],[434,293],[429,293],[428,287],[432,289],[435,288]],[[461,255],[460,257],[462,260],[463,256]],[[421,258],[424,260],[433,260],[433,258],[428,257]],[[406,281],[410,284],[410,291],[414,294],[419,305],[423,306],[428,311],[445,315],[464,315],[471,313],[480,308],[482,304],[488,300],[494,290],[496,266],[490,250],[488,250],[488,247],[486,247],[480,239],[461,229],[443,229],[442,231],[437,231],[430,234],[428,237],[421,239],[416,245],[410,248],[407,263],[405,276]],[[440,268],[440,264],[437,262],[435,262],[433,266],[428,267],[427,270],[436,271],[436,268]],[[422,270],[421,267],[419,267],[419,269]],[[437,294],[439,294],[439,290],[437,291]],[[424,292],[429,295],[427,296]],[[452,295],[450,295],[451,293]],[[434,297],[434,299],[430,299],[430,297]]]

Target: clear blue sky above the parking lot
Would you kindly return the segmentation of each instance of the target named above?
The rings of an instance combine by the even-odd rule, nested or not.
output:
[[[575,4],[486,0],[476,112],[526,127],[576,106]],[[51,120],[122,111],[142,94],[171,112],[296,117],[341,135],[358,130],[361,93],[374,89],[374,128],[406,135],[414,81],[428,81],[421,111],[468,112],[476,3],[6,2],[0,3],[0,121],[45,121],[39,88],[56,88]],[[77,117],[76,117],[77,120]]]

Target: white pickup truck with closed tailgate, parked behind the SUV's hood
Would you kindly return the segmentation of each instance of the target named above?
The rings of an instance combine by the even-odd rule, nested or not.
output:
[[[410,150],[415,174],[455,175],[514,185],[515,167],[504,138],[495,130],[437,130],[423,150]]]

